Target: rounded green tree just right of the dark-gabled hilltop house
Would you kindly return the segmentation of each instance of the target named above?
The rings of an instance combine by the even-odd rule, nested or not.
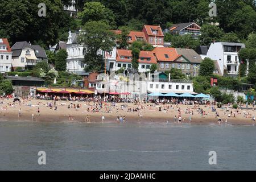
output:
[[[201,27],[200,41],[204,46],[209,46],[213,41],[219,42],[224,36],[224,31],[210,24],[204,24]]]

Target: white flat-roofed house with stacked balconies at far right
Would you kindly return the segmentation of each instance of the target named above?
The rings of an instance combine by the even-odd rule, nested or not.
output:
[[[229,76],[236,77],[239,74],[240,59],[238,52],[241,48],[245,48],[245,44],[228,42],[212,43],[207,52],[207,57],[218,61],[221,75],[224,74],[224,70],[226,69]]]

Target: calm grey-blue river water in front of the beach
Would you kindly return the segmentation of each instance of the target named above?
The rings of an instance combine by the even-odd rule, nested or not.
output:
[[[256,127],[0,122],[0,170],[9,169],[255,170]]]

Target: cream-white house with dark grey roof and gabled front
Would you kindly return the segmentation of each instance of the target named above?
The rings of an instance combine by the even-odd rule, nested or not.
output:
[[[16,42],[13,47],[12,67],[15,70],[18,67],[22,69],[34,67],[38,61],[47,61],[46,52],[39,45],[31,45],[30,43]]]

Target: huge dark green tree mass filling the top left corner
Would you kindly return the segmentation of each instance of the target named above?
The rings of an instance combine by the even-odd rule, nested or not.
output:
[[[39,3],[47,7],[46,17],[38,16]],[[9,36],[9,41],[14,44],[26,40],[54,45],[58,38],[59,20],[63,4],[60,0],[9,0],[0,3],[0,30]],[[43,28],[42,28],[43,27]]]

